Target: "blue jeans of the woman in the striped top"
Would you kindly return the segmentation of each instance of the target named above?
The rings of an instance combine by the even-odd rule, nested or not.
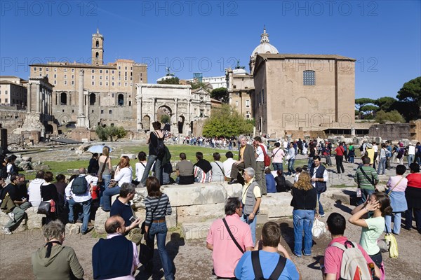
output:
[[[163,274],[166,280],[173,280],[174,279],[173,260],[171,260],[165,248],[167,232],[168,232],[168,229],[166,226],[166,222],[152,223],[147,235],[147,246],[154,248],[154,240],[155,240],[155,235],[156,235],[156,245],[158,246],[159,258],[161,258]]]

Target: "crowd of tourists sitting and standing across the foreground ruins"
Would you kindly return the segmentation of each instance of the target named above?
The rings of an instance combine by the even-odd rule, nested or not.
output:
[[[85,235],[92,228],[91,219],[95,218],[96,209],[101,207],[109,212],[109,218],[105,223],[107,237],[99,239],[92,248],[94,279],[134,279],[140,264],[145,272],[152,273],[155,239],[164,277],[174,279],[175,265],[166,251],[166,216],[171,215],[171,201],[161,193],[161,185],[227,181],[228,184],[241,183],[243,187],[240,197],[227,200],[225,218],[214,221],[208,231],[206,247],[212,251],[215,276],[218,279],[301,279],[299,267],[280,243],[279,225],[265,223],[260,240],[256,238],[258,214],[267,193],[290,191],[294,229],[292,253],[297,258],[312,255],[314,219],[325,216],[320,197],[327,189],[333,145],[317,144],[316,141],[279,141],[272,151],[268,151],[260,137],[247,139],[241,135],[232,139],[239,142],[238,160],[227,151],[225,160],[221,160],[220,153],[213,153],[213,161],[209,162],[198,151],[193,164],[185,153],[180,153],[180,161],[175,165],[177,176],[173,180],[171,153],[164,145],[161,124],[155,122],[152,126],[154,132],[147,137],[148,154],[138,153],[134,178],[127,156],[122,156],[113,169],[106,146],[101,155],[93,154],[87,170],[81,167],[79,174],[69,179],[58,174],[55,181],[51,172],[40,171],[28,186],[25,176],[18,174],[14,164],[16,158],[12,155],[4,160],[0,200],[1,210],[8,214],[10,221],[2,226],[2,232],[11,234],[25,218],[29,207],[47,209],[43,221],[46,244],[32,254],[36,278],[83,278],[83,268],[76,253],[63,245],[65,223],[81,222],[81,234]],[[327,228],[332,241],[319,260],[323,279],[355,279],[355,276],[385,279],[387,269],[377,244],[382,232],[399,235],[402,216],[406,218],[404,228],[411,230],[414,215],[416,229],[421,233],[420,144],[414,146],[413,151],[400,144],[395,150],[390,143],[385,143],[379,152],[375,151],[375,146],[370,143],[361,146],[362,163],[354,174],[359,202],[348,222],[361,227],[359,243],[344,236],[345,217],[330,214]],[[407,150],[410,174],[404,176],[406,166],[399,162],[396,176],[391,176],[387,182],[387,192],[380,192],[378,176],[385,173],[385,168],[391,168],[395,153],[398,160],[405,155],[403,151],[402,157],[398,158],[401,148]],[[355,148],[340,143],[334,151],[336,172],[343,173],[344,159],[353,163]],[[295,168],[298,153],[309,155],[309,159],[305,166]],[[322,158],[326,159],[325,165],[321,163]],[[380,163],[377,170],[376,160]],[[269,169],[271,164],[273,172]],[[288,169],[286,174],[283,174],[284,164]],[[288,175],[294,177],[293,182],[286,179]],[[131,209],[136,187],[147,189],[145,217],[135,216]],[[111,202],[113,195],[118,195],[114,203]],[[142,240],[145,241],[143,246]],[[352,261],[353,258],[357,261]]]

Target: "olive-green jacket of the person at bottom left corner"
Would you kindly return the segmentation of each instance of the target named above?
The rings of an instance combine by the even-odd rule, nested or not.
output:
[[[72,272],[77,279],[83,278],[83,268],[74,250],[67,246],[51,247],[50,258],[45,258],[47,248],[32,253],[32,271],[36,279],[70,279]]]

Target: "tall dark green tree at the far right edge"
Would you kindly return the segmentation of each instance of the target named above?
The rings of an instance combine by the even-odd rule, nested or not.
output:
[[[399,104],[396,109],[406,117],[406,120],[416,120],[421,115],[421,77],[403,84],[396,98]]]

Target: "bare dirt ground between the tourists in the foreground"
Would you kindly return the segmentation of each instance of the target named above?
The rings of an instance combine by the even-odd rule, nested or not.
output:
[[[335,204],[333,211],[349,217],[351,209],[345,205]],[[321,221],[326,222],[326,217]],[[277,221],[281,225],[281,243],[288,252],[293,248],[293,221],[292,218],[283,218]],[[360,228],[349,225],[345,235],[353,241],[359,241]],[[258,228],[260,238],[261,225]],[[211,275],[211,252],[206,248],[205,239],[185,241],[180,235],[173,233],[167,237],[166,248],[173,258],[176,267],[176,279],[215,279]],[[387,279],[421,279],[421,235],[415,230],[401,230],[396,236],[399,244],[399,258],[389,258],[388,253],[383,253]],[[72,246],[79,262],[85,271],[84,279],[93,279],[91,265],[91,249],[98,239],[92,235],[69,235],[65,245]],[[312,256],[297,258],[292,255],[292,260],[300,269],[302,279],[321,279],[321,272],[316,260],[323,255],[324,249],[330,241],[330,235],[323,235],[314,239]],[[31,268],[31,254],[36,248],[44,245],[41,230],[18,232],[13,235],[0,235],[0,279],[34,279]],[[155,268],[153,274],[145,274],[140,267],[136,279],[163,279],[163,270],[159,260],[158,251],[154,254]]]

